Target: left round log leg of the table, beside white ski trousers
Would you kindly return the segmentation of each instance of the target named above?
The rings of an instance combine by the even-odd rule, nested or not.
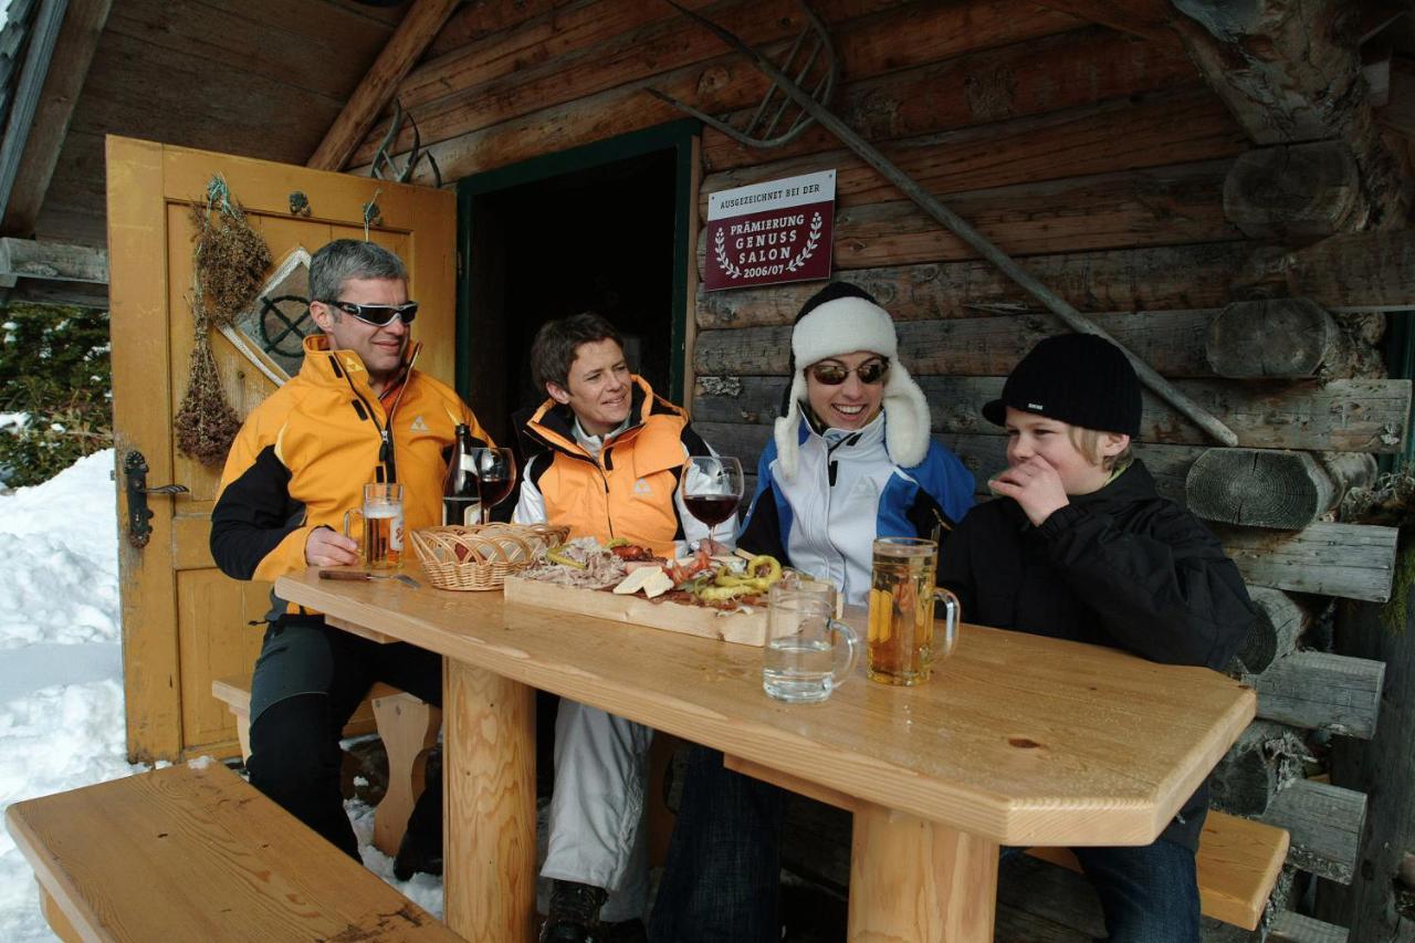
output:
[[[468,940],[535,939],[535,691],[443,658],[446,920]]]

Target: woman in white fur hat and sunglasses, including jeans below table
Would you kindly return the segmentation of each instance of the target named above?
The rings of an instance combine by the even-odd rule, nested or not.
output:
[[[930,438],[928,404],[899,362],[894,320],[863,289],[833,282],[807,300],[791,331],[791,371],[737,545],[829,579],[862,605],[873,539],[951,530],[972,507],[974,477]],[[695,746],[649,939],[780,939],[782,810],[780,789]]]

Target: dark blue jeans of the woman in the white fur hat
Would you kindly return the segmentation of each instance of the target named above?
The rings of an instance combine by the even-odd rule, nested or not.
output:
[[[688,752],[688,776],[649,920],[654,943],[775,943],[781,939],[785,793],[724,769],[722,753]]]

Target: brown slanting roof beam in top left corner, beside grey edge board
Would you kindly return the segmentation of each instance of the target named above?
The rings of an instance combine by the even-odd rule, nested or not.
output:
[[[50,57],[44,86],[40,89],[34,123],[24,142],[20,168],[10,190],[10,201],[4,205],[0,232],[20,236],[34,234],[44,197],[50,193],[50,181],[54,178],[54,167],[59,161],[59,150],[69,133],[74,106],[88,78],[93,50],[98,48],[98,38],[103,33],[103,24],[108,23],[110,7],[112,0],[68,3],[64,24],[59,27]]]

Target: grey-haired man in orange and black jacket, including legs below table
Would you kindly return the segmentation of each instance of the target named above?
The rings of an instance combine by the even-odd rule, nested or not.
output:
[[[471,409],[417,370],[402,261],[378,245],[330,242],[310,259],[304,362],[246,418],[211,515],[211,552],[236,579],[273,581],[306,566],[361,562],[342,534],[368,483],[403,484],[405,532],[441,521],[446,450],[456,426],[490,445]],[[250,783],[359,859],[344,813],[340,736],[376,681],[441,704],[441,660],[325,624],[272,593],[250,681]],[[393,871],[441,874],[441,780],[409,817]]]

